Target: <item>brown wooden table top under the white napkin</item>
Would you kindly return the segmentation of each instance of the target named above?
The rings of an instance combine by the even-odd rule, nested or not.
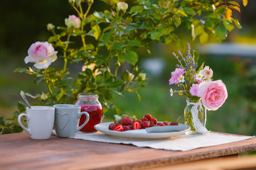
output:
[[[256,137],[186,152],[60,138],[0,135],[0,169],[146,169],[256,150]]]

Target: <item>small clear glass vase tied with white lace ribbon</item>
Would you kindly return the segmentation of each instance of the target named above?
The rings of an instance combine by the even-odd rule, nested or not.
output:
[[[200,135],[204,132],[208,132],[206,129],[206,118],[204,118],[204,110],[199,101],[193,102],[189,98],[187,99],[187,105],[184,109],[184,121],[185,125],[189,125],[191,130],[186,132],[188,135]]]

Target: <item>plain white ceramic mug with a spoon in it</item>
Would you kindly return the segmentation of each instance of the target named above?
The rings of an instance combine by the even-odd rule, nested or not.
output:
[[[18,115],[18,124],[26,130],[34,140],[47,140],[53,130],[55,108],[51,106],[31,106],[26,108],[26,113]],[[25,116],[28,128],[21,123],[21,117]]]

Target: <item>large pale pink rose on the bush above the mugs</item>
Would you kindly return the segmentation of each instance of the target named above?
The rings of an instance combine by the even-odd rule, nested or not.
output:
[[[57,52],[53,45],[48,42],[35,42],[28,49],[28,56],[25,57],[25,63],[36,63],[33,66],[38,69],[47,69],[52,62],[57,60]]]

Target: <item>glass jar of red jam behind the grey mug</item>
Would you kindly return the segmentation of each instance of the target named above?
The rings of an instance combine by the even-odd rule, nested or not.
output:
[[[103,110],[98,98],[99,96],[97,94],[78,94],[78,101],[75,104],[81,106],[81,112],[86,111],[90,115],[88,123],[80,130],[81,132],[97,132],[94,125],[102,123]],[[85,120],[86,115],[82,115],[79,125],[85,123]]]

